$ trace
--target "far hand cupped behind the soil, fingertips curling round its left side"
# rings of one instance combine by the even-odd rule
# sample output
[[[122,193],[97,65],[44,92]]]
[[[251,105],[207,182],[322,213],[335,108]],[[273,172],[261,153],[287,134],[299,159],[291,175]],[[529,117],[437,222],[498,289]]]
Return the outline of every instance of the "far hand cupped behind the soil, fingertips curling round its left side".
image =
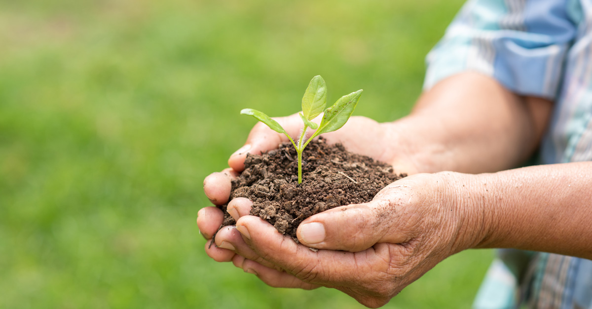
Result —
[[[317,122],[321,117],[322,115],[316,119]],[[274,119],[291,136],[298,135],[303,126],[298,114]],[[312,132],[310,131],[310,134]],[[337,131],[323,134],[329,143],[341,142],[349,151],[392,164],[396,172],[414,174],[418,169],[408,156],[408,151],[404,146],[408,143],[402,141],[403,136],[404,134],[397,131],[397,127],[392,123],[378,123],[361,116],[350,118],[343,128]],[[230,181],[244,170],[246,154],[260,154],[275,149],[278,144],[287,141],[288,138],[285,135],[272,131],[261,122],[257,123],[250,132],[246,144],[231,155],[228,161],[230,168],[205,178],[206,196],[215,205],[227,203],[230,197]],[[237,212],[234,207],[230,207],[230,211]],[[217,207],[204,207],[198,212],[197,224],[206,239],[211,239],[217,232],[223,217],[223,213]],[[231,261],[234,256],[234,252],[228,250],[228,243],[223,243],[223,239],[220,238],[220,242],[218,242],[218,237],[216,238],[218,246],[210,246],[210,242],[206,243],[207,254],[218,262]]]

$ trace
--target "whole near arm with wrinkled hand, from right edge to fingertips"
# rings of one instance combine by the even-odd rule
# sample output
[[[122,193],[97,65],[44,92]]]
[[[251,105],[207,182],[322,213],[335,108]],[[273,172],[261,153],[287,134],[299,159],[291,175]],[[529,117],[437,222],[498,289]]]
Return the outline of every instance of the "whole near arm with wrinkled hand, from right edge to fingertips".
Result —
[[[379,307],[443,259],[469,248],[592,258],[590,188],[590,162],[494,174],[412,175],[369,203],[304,220],[298,239],[317,252],[287,241],[259,217],[243,215],[237,220],[243,237],[231,241],[246,245],[237,246],[233,262],[274,287],[324,285]],[[241,257],[250,252],[265,259]]]

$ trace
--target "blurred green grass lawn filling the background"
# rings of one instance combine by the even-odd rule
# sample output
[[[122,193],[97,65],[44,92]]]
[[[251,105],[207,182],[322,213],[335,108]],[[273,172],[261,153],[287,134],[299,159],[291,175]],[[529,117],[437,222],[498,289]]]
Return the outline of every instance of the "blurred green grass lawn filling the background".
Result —
[[[0,0],[0,308],[358,308],[266,287],[204,251],[205,175],[310,78],[391,121],[461,1]],[[466,308],[490,251],[387,308]]]

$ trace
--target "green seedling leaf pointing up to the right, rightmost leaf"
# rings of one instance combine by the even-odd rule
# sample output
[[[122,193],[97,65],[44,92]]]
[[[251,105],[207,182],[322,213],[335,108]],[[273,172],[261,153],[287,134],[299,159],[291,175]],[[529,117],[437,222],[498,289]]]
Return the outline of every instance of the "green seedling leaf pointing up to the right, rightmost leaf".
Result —
[[[352,115],[353,110],[358,105],[358,100],[362,95],[362,89],[352,92],[349,95],[342,96],[333,106],[327,108],[323,115],[321,124],[318,125],[318,130],[314,132],[314,136],[321,135],[327,132],[333,132],[341,128],[348,122],[349,116]]]

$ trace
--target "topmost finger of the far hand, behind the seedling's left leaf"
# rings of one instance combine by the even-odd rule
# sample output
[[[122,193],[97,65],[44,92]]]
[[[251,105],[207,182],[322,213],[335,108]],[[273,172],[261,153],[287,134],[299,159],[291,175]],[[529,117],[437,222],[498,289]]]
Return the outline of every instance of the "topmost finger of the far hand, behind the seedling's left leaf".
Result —
[[[298,114],[287,117],[274,117],[282,128],[286,130],[288,135],[295,136],[302,129],[302,121]],[[262,122],[258,122],[249,133],[246,143],[234,154],[230,155],[228,165],[235,171],[244,170],[244,159],[247,154],[262,154],[262,152],[278,148],[282,142],[287,142],[288,138],[284,134],[280,134],[270,129]]]

